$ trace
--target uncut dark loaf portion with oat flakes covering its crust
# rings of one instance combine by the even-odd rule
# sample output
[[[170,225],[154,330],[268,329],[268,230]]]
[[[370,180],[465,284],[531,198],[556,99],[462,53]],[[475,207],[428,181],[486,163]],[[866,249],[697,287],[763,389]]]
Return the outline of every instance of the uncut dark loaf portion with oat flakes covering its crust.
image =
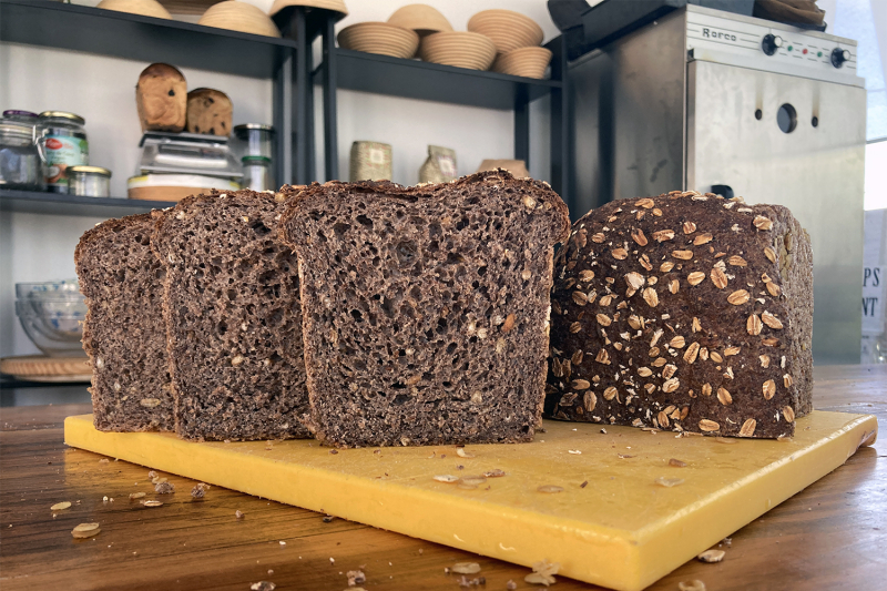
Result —
[[[548,416],[772,438],[812,410],[813,254],[787,208],[611,202],[554,275]]]

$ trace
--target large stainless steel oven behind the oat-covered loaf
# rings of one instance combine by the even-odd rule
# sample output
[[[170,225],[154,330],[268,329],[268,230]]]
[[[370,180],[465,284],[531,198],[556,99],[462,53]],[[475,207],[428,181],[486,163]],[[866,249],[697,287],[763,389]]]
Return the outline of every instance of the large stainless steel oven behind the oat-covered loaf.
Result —
[[[618,37],[570,67],[570,211],[675,188],[789,207],[815,253],[815,363],[858,363],[856,65],[849,39],[695,6]]]

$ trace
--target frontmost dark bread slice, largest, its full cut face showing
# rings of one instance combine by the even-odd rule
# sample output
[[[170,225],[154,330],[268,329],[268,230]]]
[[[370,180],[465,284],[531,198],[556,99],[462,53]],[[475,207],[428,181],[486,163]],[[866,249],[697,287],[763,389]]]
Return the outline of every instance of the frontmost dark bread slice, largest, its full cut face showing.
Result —
[[[506,171],[288,190],[315,436],[338,446],[528,441],[567,206]]]

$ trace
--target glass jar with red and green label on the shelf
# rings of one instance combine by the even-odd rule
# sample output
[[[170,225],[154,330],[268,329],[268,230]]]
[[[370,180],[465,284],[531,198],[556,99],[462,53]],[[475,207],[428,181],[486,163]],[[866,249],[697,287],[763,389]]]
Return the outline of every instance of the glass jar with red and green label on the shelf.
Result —
[[[47,185],[54,193],[68,193],[68,166],[82,166],[90,163],[90,144],[85,120],[63,111],[40,113],[34,141],[43,162],[47,164]]]

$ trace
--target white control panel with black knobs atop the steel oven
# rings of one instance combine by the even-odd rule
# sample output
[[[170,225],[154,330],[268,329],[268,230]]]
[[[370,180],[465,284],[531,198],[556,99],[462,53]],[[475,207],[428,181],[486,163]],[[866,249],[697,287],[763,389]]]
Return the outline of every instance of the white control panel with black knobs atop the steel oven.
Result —
[[[690,7],[687,7],[690,9]],[[846,74],[856,78],[856,43],[835,35],[783,28],[762,19],[715,16],[712,11],[687,10],[687,50],[710,50],[756,62],[762,69],[778,67],[828,78]],[[726,13],[721,13],[726,14]],[[813,69],[813,71],[810,71]]]

